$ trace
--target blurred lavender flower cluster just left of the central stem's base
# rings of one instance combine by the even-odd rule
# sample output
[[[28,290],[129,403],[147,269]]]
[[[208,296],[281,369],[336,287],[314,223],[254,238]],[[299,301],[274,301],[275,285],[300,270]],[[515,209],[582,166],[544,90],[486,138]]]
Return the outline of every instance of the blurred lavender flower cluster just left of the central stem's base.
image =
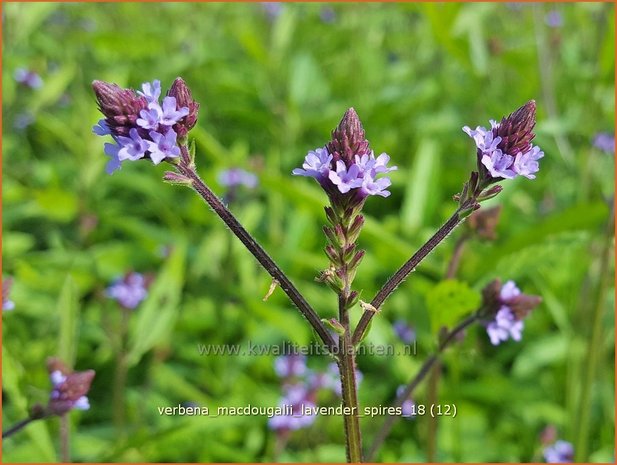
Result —
[[[274,362],[276,374],[283,379],[283,398],[279,406],[292,406],[291,415],[275,415],[268,426],[279,432],[294,431],[312,425],[317,416],[306,414],[315,408],[315,399],[320,389],[327,389],[341,396],[341,381],[336,363],[328,365],[323,373],[315,373],[306,365],[301,354],[282,355]],[[362,373],[356,370],[356,381],[360,383]],[[303,413],[305,412],[305,413]]]

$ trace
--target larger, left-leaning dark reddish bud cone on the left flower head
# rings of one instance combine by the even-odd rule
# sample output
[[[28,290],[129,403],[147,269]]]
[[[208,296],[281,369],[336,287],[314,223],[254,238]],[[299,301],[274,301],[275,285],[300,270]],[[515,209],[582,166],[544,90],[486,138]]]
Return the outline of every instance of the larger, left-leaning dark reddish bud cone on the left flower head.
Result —
[[[111,133],[128,137],[131,128],[136,126],[139,112],[148,106],[145,97],[140,97],[132,89],[122,89],[117,84],[103,81],[94,81],[92,89]]]

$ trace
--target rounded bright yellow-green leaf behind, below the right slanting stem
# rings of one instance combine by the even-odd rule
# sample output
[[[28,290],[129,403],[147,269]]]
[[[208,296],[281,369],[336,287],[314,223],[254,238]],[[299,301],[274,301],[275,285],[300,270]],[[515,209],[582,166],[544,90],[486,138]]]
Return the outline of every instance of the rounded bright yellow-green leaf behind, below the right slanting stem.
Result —
[[[431,330],[437,334],[442,326],[451,328],[463,315],[477,309],[480,293],[454,279],[442,281],[426,296],[431,318]]]

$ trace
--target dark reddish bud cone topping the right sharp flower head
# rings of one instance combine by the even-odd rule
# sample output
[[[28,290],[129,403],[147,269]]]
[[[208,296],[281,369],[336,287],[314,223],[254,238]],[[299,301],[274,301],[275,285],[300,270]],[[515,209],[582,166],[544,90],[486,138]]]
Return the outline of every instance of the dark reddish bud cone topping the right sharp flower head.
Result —
[[[527,153],[531,150],[531,141],[536,136],[533,128],[536,125],[536,101],[530,100],[514,113],[501,119],[499,125],[493,128],[493,136],[501,137],[497,146],[503,153],[512,156]]]

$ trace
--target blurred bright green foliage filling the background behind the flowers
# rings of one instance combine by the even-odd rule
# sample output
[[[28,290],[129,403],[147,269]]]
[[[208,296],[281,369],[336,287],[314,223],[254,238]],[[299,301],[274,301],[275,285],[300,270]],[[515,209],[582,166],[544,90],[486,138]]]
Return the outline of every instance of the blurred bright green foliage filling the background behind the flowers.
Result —
[[[551,12],[561,24],[548,24]],[[391,322],[403,319],[418,354],[360,357],[360,402],[387,405],[434,349],[431,306],[461,306],[491,279],[514,279],[544,302],[522,342],[493,347],[474,327],[446,353],[439,400],[458,416],[439,422],[436,460],[539,461],[547,425],[580,460],[613,460],[614,156],[592,146],[614,127],[612,4],[5,3],[3,21],[3,276],[14,277],[16,303],[3,315],[5,427],[46,402],[45,359],[61,355],[97,372],[91,409],[70,415],[75,460],[344,459],[336,417],[292,433],[277,453],[265,418],[158,414],[182,402],[278,403],[274,357],[204,357],[198,344],[313,338],[282,292],[262,301],[266,273],[199,198],[161,182],[163,166],[104,173],[92,80],[166,88],[182,76],[201,102],[191,135],[202,176],[221,195],[221,170],[259,176],[231,208],[324,318],[335,316],[333,294],[314,282],[326,266],[325,195],[290,172],[344,111],[355,107],[376,152],[399,166],[392,196],[366,205],[356,288],[368,299],[454,210],[474,166],[461,127],[536,99],[538,178],[504,182],[492,201],[503,205],[498,238],[468,244],[457,276],[466,297],[440,285],[450,238],[388,300],[367,341],[400,346]],[[20,67],[44,85],[18,84]],[[118,425],[120,311],[104,290],[129,270],[155,281],[129,322]],[[328,361],[310,357],[309,367]],[[367,445],[381,422],[362,419]],[[56,419],[28,426],[3,441],[4,461],[56,460],[58,429]],[[377,459],[425,461],[428,434],[427,417],[403,420]]]

